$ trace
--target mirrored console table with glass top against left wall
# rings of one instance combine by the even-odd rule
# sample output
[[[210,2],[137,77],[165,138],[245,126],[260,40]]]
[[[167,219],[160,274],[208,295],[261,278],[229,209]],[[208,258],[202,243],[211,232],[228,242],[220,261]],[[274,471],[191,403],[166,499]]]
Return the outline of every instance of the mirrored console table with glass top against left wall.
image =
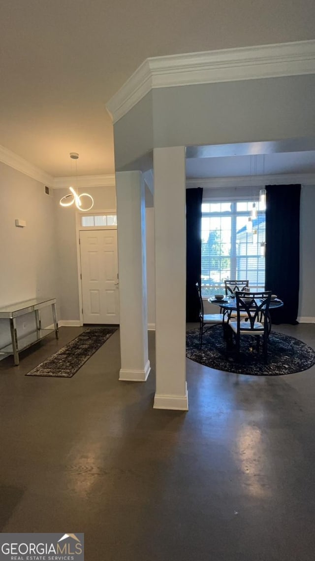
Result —
[[[40,310],[42,308],[51,306],[53,314],[54,329],[41,328]],[[34,312],[36,320],[36,329],[17,338],[16,318],[19,316],[30,314]],[[18,353],[34,343],[40,341],[50,333],[55,332],[55,337],[58,339],[58,322],[56,312],[56,299],[55,298],[32,298],[24,302],[17,302],[17,304],[10,304],[8,306],[0,307],[0,319],[10,320],[11,331],[11,344],[6,345],[0,349],[0,355],[13,355],[14,364],[18,365]]]

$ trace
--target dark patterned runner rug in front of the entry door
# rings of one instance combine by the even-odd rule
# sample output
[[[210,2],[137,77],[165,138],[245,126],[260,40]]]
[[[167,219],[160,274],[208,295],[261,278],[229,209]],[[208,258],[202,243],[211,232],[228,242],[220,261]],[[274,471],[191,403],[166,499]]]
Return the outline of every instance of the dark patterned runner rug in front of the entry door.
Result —
[[[25,376],[71,378],[115,331],[116,328],[87,328]]]

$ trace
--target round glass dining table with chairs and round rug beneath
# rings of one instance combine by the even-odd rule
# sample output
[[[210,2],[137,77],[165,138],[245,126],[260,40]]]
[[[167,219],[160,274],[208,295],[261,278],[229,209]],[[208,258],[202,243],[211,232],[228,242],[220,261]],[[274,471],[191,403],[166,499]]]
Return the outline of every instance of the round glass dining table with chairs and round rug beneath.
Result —
[[[225,279],[202,297],[199,327],[187,332],[187,357],[216,370],[248,375],[281,375],[306,370],[315,353],[272,325],[284,301],[272,291],[251,288],[248,279]],[[207,313],[208,311],[213,313]]]

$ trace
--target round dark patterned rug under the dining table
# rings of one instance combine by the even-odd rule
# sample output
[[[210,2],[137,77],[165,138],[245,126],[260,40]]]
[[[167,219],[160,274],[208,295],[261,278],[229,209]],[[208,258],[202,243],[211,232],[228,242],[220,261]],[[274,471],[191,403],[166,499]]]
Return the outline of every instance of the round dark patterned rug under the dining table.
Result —
[[[186,356],[194,362],[235,374],[254,376],[279,376],[293,374],[311,368],[315,364],[315,352],[302,341],[271,331],[268,341],[268,364],[256,351],[254,338],[241,338],[240,353],[226,351],[221,325],[215,325],[203,335],[202,350],[199,348],[199,329],[187,333]]]

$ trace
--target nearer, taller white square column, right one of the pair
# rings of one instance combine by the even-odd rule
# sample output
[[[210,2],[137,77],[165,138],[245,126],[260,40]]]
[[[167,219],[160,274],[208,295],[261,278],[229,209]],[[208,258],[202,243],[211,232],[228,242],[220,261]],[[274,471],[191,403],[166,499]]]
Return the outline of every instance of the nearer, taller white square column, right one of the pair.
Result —
[[[185,149],[156,148],[154,408],[188,410],[186,383]]]

